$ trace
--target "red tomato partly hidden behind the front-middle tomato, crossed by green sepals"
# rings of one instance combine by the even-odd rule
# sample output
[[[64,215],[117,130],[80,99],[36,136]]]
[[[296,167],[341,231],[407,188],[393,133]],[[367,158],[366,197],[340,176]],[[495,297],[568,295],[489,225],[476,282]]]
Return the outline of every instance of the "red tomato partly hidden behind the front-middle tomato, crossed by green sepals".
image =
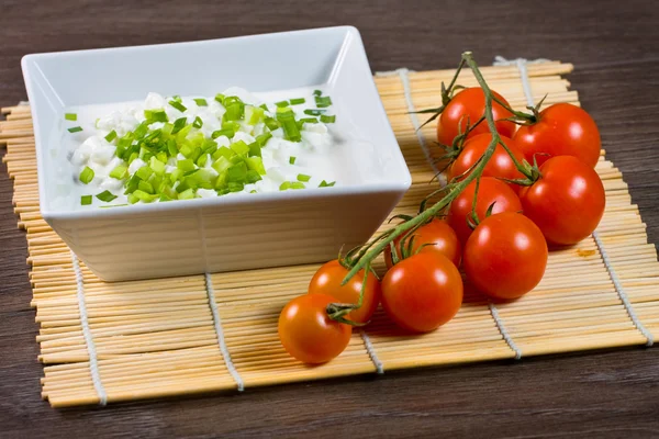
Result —
[[[455,230],[450,228],[450,226],[444,221],[435,218],[428,224],[418,227],[418,229],[414,232],[413,236],[413,254],[421,248],[420,251],[422,252],[438,252],[446,256],[453,263],[456,264],[456,267],[460,264],[462,249],[460,247],[460,241],[458,240],[458,235],[456,235]],[[401,239],[402,236],[393,240],[399,258]],[[405,240],[405,243],[409,243],[409,240]],[[422,248],[422,246],[424,247]],[[387,268],[391,268],[393,266],[390,247],[384,249],[384,262],[387,262]]]

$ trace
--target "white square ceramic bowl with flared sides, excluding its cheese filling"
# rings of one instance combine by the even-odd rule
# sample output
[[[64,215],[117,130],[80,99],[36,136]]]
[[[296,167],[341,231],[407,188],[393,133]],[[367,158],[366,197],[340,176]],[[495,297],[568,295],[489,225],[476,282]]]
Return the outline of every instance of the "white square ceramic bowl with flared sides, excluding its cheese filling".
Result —
[[[359,32],[327,27],[167,45],[27,55],[44,219],[108,281],[242,270],[335,258],[361,244],[410,188]],[[63,210],[65,109],[142,100],[149,91],[214,95],[323,85],[336,128],[357,139],[357,184],[113,209]],[[72,168],[69,175],[72,175]]]

